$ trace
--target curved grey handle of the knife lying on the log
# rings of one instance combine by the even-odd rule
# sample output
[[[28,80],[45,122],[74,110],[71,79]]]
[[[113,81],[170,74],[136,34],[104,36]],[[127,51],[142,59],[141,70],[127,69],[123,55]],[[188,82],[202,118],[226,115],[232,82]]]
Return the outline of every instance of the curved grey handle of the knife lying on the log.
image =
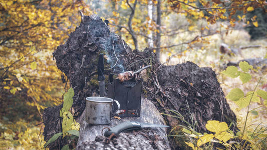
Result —
[[[111,127],[110,130],[106,130],[104,132],[104,135],[106,137],[109,137],[112,133],[115,135],[118,135],[120,132],[128,129],[137,129],[141,128],[141,124],[135,121],[126,121],[123,123],[120,123],[119,125],[116,125],[114,127]]]

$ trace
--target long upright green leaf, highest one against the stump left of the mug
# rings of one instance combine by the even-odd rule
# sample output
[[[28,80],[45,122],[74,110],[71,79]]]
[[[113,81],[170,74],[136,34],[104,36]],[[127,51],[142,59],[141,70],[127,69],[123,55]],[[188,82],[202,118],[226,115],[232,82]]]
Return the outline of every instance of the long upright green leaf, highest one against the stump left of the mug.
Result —
[[[68,92],[64,95],[64,103],[63,103],[63,107],[60,110],[60,116],[62,117],[63,113],[68,111],[72,104],[73,104],[73,97],[74,96],[74,90],[73,88],[69,88]]]

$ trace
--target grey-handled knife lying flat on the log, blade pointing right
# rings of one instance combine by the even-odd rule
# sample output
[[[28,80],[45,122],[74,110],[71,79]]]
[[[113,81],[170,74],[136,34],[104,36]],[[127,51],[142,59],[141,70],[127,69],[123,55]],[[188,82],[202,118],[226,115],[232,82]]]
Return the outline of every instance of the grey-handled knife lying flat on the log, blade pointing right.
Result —
[[[104,135],[106,137],[109,137],[112,133],[114,133],[115,135],[118,135],[120,132],[123,132],[126,130],[141,129],[145,127],[170,127],[170,126],[162,125],[162,124],[142,123],[142,122],[137,122],[137,121],[126,121],[126,122],[120,123],[119,125],[111,127],[110,130],[106,130],[104,132]]]

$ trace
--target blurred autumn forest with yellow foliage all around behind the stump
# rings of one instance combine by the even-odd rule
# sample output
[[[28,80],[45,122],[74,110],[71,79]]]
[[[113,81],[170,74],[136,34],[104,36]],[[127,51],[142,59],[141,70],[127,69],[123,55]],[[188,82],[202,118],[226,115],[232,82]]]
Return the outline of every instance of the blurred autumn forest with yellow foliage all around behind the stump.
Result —
[[[68,81],[52,52],[79,25],[79,10],[109,20],[133,49],[153,48],[165,65],[212,67],[227,95],[236,87],[250,91],[266,73],[255,65],[246,84],[220,74],[228,62],[266,57],[266,8],[266,0],[1,0],[0,147],[43,148],[42,112],[63,102]],[[220,51],[222,43],[228,50]],[[258,88],[266,84],[263,77]],[[228,103],[242,128],[246,107]],[[249,114],[246,130],[266,126],[266,114],[265,106]]]

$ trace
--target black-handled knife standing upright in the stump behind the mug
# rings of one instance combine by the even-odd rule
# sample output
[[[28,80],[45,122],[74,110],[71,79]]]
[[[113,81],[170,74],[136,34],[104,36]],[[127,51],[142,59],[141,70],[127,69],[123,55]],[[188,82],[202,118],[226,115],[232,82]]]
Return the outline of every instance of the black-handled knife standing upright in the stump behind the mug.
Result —
[[[104,54],[101,53],[98,58],[98,65],[97,65],[97,79],[99,82],[99,91],[100,96],[105,96],[105,75],[104,75]]]

